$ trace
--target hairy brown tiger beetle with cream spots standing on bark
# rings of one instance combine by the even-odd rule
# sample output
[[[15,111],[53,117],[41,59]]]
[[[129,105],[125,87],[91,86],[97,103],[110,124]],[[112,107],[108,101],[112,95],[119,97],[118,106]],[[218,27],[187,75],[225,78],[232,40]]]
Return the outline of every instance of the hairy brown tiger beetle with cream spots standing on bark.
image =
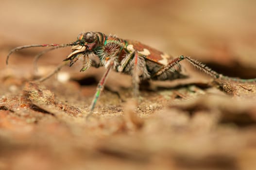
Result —
[[[100,97],[111,69],[132,75],[135,97],[138,96],[140,80],[174,80],[185,78],[186,75],[182,73],[182,68],[179,64],[182,60],[187,60],[192,66],[202,70],[214,79],[241,83],[256,82],[256,79],[239,79],[223,76],[211,68],[208,68],[205,64],[188,56],[181,55],[180,57],[173,58],[166,53],[151,48],[138,41],[121,39],[115,35],[107,36],[100,32],[81,33],[78,35],[76,41],[68,44],[36,44],[17,47],[9,52],[6,64],[8,64],[9,56],[14,51],[32,47],[52,47],[35,56],[34,65],[36,66],[37,60],[44,53],[69,46],[72,46],[72,52],[63,60],[64,63],[57,67],[49,76],[40,81],[48,79],[51,75],[68,64],[68,62],[71,67],[79,58],[84,60],[83,67],[80,71],[85,71],[90,67],[98,68],[104,66],[106,71],[98,84],[97,91],[89,107],[90,112],[87,115],[87,118],[93,113],[95,104]],[[98,58],[98,61],[95,60],[95,57]]]

